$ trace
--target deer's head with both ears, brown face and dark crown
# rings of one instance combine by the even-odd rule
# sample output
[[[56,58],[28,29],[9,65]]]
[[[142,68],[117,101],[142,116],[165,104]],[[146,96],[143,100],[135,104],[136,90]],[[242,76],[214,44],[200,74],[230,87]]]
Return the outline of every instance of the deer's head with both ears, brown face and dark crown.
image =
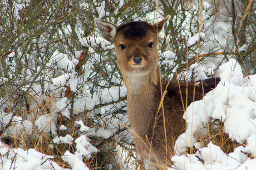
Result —
[[[160,22],[130,22],[118,27],[114,23],[95,19],[101,35],[115,45],[117,64],[126,77],[152,74],[158,66],[158,33],[169,19]]]

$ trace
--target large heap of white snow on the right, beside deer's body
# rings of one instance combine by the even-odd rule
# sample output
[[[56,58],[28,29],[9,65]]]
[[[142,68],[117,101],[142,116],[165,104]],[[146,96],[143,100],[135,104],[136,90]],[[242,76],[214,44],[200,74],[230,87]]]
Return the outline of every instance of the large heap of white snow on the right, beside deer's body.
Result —
[[[248,78],[243,78],[242,68],[234,59],[230,59],[228,63],[220,66],[219,76],[221,81],[216,88],[206,94],[202,100],[192,103],[186,110],[184,119],[188,122],[188,129],[176,141],[176,154],[182,154],[186,151],[187,147],[195,146],[199,149],[195,156],[204,160],[205,167],[223,169],[239,167],[239,161],[236,164],[230,162],[236,160],[232,158],[235,155],[243,159],[243,161],[246,159],[246,163],[243,162],[242,167],[246,165],[248,168],[253,169],[254,166],[251,163],[254,162],[255,164],[256,160],[250,160],[244,153],[251,153],[255,156],[255,76],[249,76],[249,78],[252,77],[252,81]],[[201,145],[197,143],[199,141],[196,140],[195,136],[207,136],[207,132],[204,132],[204,127],[210,117],[224,122],[225,133],[228,133],[232,140],[236,140],[239,143],[247,142],[246,147],[239,147],[239,150],[243,152],[234,151],[227,156],[218,146],[211,142],[208,144],[208,147],[200,148]],[[186,167],[190,167],[190,169],[204,169],[204,166],[197,165],[199,160],[195,156],[191,156],[196,160],[195,162],[189,161],[188,158],[184,159],[184,156],[174,156],[172,160],[176,162],[175,166],[178,169],[186,169]]]

